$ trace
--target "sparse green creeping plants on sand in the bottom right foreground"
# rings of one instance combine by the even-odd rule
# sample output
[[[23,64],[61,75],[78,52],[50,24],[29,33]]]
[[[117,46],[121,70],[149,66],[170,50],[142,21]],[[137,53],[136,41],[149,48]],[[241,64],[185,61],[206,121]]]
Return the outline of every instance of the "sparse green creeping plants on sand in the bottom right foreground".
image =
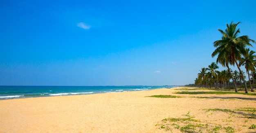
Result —
[[[210,117],[209,120],[198,120],[195,116],[190,114],[190,111],[184,115],[181,115],[180,118],[165,118],[159,124],[155,126],[158,129],[168,129],[168,131],[175,132],[177,130],[182,133],[235,133],[234,126],[231,126],[237,118],[243,120],[245,123],[240,125],[238,131],[242,131],[245,127],[249,127],[249,129],[256,129],[255,124],[251,124],[246,120],[248,117],[253,118],[256,115],[252,114],[255,112],[256,108],[245,107],[238,109],[202,109],[205,111],[205,115]],[[210,112],[210,113],[208,113]],[[216,113],[227,113],[229,116],[221,114],[222,119],[215,119]],[[245,115],[247,117],[245,117]],[[244,116],[244,117],[243,117]],[[234,118],[233,118],[234,117]],[[222,122],[223,124],[218,124],[218,122]]]

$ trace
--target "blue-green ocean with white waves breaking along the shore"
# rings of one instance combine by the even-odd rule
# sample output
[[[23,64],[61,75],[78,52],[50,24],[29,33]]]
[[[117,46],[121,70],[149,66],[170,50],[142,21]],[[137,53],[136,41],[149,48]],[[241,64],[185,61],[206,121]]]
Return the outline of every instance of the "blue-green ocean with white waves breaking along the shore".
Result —
[[[159,88],[166,88],[166,86],[0,86],[0,100],[147,91]]]

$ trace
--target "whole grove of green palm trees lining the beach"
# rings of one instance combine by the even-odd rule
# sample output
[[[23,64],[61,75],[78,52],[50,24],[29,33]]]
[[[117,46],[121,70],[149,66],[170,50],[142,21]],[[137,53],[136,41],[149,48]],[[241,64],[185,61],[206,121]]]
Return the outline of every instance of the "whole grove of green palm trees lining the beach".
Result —
[[[220,40],[214,41],[213,46],[216,48],[211,54],[212,57],[217,56],[216,63],[220,63],[227,70],[218,71],[218,65],[212,62],[208,68],[201,68],[198,77],[195,79],[195,85],[204,87],[228,87],[230,85],[230,79],[232,79],[232,85],[237,91],[238,83],[244,84],[245,93],[247,91],[247,83],[249,83],[251,91],[254,92],[255,83],[255,68],[256,68],[256,55],[253,50],[251,43],[255,43],[254,40],[249,39],[247,35],[238,36],[240,29],[236,28],[240,22],[234,24],[231,22],[227,24],[225,31],[220,31],[222,37]],[[238,68],[238,71],[234,72],[229,68],[233,65]],[[248,74],[248,82],[245,81],[245,72],[240,67],[244,66],[246,73]],[[252,78],[251,78],[252,77]]]

